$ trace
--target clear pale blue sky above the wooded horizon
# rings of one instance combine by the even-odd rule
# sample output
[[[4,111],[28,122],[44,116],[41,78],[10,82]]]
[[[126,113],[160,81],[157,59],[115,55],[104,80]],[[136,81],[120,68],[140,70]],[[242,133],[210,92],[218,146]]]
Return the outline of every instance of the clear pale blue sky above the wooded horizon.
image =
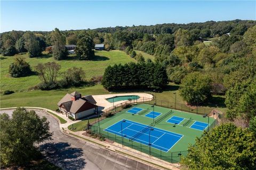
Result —
[[[256,20],[256,1],[2,1],[1,33]]]

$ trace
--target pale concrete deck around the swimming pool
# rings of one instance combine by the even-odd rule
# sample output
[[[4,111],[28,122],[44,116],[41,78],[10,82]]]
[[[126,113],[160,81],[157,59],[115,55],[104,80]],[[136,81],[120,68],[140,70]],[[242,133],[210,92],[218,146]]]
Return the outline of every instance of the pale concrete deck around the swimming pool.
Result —
[[[102,94],[102,95],[92,95],[94,100],[97,102],[97,106],[99,106],[99,109],[102,111],[105,111],[106,109],[113,107],[113,103],[107,101],[108,98],[113,98],[115,96],[124,96],[124,95],[138,95],[140,98],[138,100],[144,100],[144,101],[151,101],[153,100],[153,95],[148,93],[121,93],[121,94]],[[114,102],[114,106],[117,104],[121,104],[123,102],[126,102],[128,100],[121,100]]]

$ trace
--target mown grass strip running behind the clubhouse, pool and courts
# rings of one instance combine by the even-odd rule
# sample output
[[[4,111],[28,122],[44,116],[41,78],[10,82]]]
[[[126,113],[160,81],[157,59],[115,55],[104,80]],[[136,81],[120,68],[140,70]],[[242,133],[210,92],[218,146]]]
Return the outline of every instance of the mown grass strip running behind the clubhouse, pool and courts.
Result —
[[[177,103],[185,103],[179,95],[179,86],[175,84],[169,84],[165,90],[161,93],[157,93],[157,104],[161,101],[175,102],[175,95],[177,93]],[[82,95],[93,95],[93,94],[109,94],[102,85],[98,84],[91,87],[80,87],[80,88],[68,88],[51,91],[34,90],[28,92],[16,92],[9,95],[1,95],[1,108],[7,107],[42,107],[51,110],[57,109],[57,103],[66,93],[72,93],[78,91]],[[129,93],[129,92],[145,92],[153,93],[149,91],[115,91],[113,93]],[[154,94],[154,93],[153,93]],[[205,107],[217,108],[222,112],[226,111],[225,97],[214,95],[213,98],[205,103]]]

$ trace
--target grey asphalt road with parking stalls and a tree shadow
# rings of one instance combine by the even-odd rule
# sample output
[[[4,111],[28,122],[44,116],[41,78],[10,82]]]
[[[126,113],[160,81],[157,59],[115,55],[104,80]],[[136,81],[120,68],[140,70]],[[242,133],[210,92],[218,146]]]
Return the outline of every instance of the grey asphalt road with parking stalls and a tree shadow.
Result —
[[[6,112],[11,116],[12,111],[0,110],[0,113]],[[53,132],[53,140],[41,143],[39,148],[47,160],[62,169],[156,169],[116,152],[65,135],[60,131],[59,123],[55,118],[47,115],[42,110],[36,110],[36,113],[41,117],[45,116],[49,120],[50,131]]]

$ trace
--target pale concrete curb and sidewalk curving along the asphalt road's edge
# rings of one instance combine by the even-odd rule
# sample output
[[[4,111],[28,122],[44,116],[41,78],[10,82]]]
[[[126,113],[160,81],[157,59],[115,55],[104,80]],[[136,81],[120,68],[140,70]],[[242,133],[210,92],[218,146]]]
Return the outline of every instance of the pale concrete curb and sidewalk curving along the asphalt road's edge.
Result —
[[[19,107],[0,108],[0,110],[11,110],[11,109],[16,109],[16,108],[19,108]],[[148,161],[146,161],[146,160],[137,158],[137,157],[135,157],[135,156],[130,155],[129,153],[125,153],[125,154],[124,154],[124,153],[122,153],[121,151],[118,151],[118,150],[111,150],[111,149],[109,149],[109,148],[105,145],[105,144],[106,144],[105,142],[102,142],[102,143],[105,143],[105,144],[101,144],[100,142],[96,142],[96,141],[93,141],[93,140],[85,139],[84,137],[81,137],[81,136],[78,136],[78,135],[75,135],[75,134],[66,132],[65,129],[63,129],[63,127],[62,127],[62,128],[60,127],[60,120],[59,120],[56,116],[54,116],[54,115],[50,114],[49,112],[47,112],[47,111],[51,111],[51,112],[55,112],[55,111],[52,111],[52,110],[46,109],[46,108],[40,108],[40,107],[21,107],[21,108],[39,109],[39,110],[45,111],[47,115],[50,115],[50,116],[52,116],[53,118],[57,119],[57,121],[58,121],[58,123],[59,123],[60,131],[61,131],[61,133],[64,134],[64,135],[67,135],[67,136],[70,136],[70,137],[74,137],[74,138],[76,138],[76,139],[78,139],[78,140],[85,141],[85,142],[88,142],[88,143],[93,144],[93,145],[97,145],[98,147],[103,148],[103,149],[107,149],[107,150],[110,150],[110,151],[114,151],[115,153],[118,153],[119,155],[123,155],[123,156],[125,156],[125,157],[129,157],[129,158],[134,159],[134,160],[136,160],[136,161],[139,161],[139,162],[141,162],[141,163],[143,163],[143,164],[147,164],[147,165],[150,165],[150,166],[155,167],[155,168],[158,168],[158,169],[170,169],[170,168],[166,168],[166,167],[163,167],[163,166],[161,166],[161,165],[157,165],[157,164],[155,164],[155,163],[150,163],[150,162],[148,162]],[[179,169],[179,168],[177,168],[177,167],[175,167],[175,166],[172,165],[172,168],[171,168],[171,169]]]

